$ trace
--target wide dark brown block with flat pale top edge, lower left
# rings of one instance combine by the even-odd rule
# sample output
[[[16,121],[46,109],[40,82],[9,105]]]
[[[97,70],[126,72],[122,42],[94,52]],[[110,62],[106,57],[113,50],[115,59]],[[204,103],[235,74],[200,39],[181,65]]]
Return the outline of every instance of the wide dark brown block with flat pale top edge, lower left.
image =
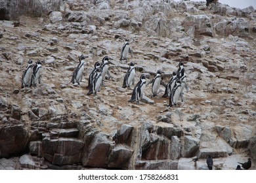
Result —
[[[84,142],[74,138],[43,139],[43,157],[54,165],[81,162]]]

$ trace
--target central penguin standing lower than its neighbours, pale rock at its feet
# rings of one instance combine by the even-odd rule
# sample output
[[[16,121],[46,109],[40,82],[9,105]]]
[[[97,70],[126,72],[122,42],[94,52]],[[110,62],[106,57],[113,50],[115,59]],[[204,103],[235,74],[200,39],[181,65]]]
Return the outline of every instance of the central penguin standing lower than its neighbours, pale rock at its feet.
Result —
[[[139,100],[143,97],[143,92],[146,86],[146,76],[141,75],[139,82],[136,84],[135,88],[133,89],[133,93],[131,95],[131,99],[129,100],[130,103],[136,101],[139,104]]]

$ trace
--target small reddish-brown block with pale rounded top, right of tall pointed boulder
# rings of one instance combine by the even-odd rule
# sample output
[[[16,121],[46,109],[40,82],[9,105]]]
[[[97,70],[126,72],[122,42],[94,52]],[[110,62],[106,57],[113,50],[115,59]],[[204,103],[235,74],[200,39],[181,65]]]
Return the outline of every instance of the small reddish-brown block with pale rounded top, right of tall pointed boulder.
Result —
[[[118,144],[110,152],[108,167],[121,167],[127,169],[129,165],[128,161],[131,158],[133,151],[134,150],[128,146]]]

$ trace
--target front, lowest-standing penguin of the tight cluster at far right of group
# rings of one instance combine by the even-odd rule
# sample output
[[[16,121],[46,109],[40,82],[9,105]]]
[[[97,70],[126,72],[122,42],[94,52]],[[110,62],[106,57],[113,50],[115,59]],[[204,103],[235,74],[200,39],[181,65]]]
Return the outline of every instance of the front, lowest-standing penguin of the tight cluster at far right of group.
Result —
[[[171,95],[169,96],[169,107],[176,105],[180,97],[181,101],[183,101],[182,92],[184,88],[186,88],[186,91],[188,92],[188,86],[186,86],[186,82],[182,80],[175,81],[175,85],[173,86],[173,90],[171,91]]]

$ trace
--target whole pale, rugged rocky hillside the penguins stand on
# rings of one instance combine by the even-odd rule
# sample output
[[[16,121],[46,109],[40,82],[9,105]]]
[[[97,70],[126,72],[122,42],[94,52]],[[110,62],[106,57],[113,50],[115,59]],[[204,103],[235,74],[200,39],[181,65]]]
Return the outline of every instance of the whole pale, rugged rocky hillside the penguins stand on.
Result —
[[[247,158],[256,169],[253,7],[55,3],[0,1],[0,169],[207,169],[208,154],[213,169],[236,169]],[[167,107],[164,88],[152,98],[148,85],[140,105],[128,103],[132,91],[121,86],[129,61],[119,61],[125,38],[135,83],[158,69],[167,83],[185,63],[184,102]],[[77,86],[70,80],[81,54],[89,58]],[[87,96],[88,76],[104,56],[114,59],[113,78]],[[43,61],[41,84],[21,89],[28,59]]]

